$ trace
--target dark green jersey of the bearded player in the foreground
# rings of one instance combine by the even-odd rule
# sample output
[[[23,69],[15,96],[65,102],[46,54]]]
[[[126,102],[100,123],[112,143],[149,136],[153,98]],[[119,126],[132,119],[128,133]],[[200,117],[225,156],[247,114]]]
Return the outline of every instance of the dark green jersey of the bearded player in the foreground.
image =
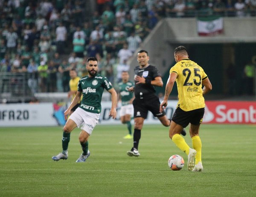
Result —
[[[85,111],[99,114],[101,112],[101,100],[104,89],[112,89],[112,84],[106,77],[96,74],[94,77],[88,75],[82,77],[78,83],[78,91],[81,91],[83,98],[80,108]]]

